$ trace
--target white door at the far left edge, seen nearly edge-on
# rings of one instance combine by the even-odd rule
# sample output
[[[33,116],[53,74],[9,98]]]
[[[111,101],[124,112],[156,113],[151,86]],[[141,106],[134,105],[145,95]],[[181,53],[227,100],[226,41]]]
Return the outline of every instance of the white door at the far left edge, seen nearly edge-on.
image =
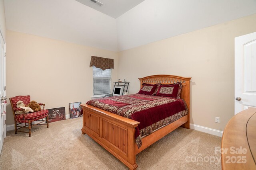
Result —
[[[3,147],[4,138],[6,137],[6,57],[5,57],[5,43],[0,34],[0,152]]]

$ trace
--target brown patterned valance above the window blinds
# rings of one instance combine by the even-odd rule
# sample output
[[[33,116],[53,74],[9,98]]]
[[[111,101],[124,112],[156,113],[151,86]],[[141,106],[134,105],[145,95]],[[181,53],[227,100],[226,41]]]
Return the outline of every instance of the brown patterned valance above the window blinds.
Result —
[[[90,66],[96,66],[102,70],[114,68],[114,59],[92,56]]]

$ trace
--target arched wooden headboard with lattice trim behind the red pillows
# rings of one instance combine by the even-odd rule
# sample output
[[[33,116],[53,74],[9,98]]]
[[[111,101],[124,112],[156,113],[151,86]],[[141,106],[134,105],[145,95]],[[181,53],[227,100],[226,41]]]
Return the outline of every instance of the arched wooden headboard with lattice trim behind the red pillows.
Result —
[[[142,88],[143,83],[147,84],[173,84],[176,82],[182,83],[182,89],[180,98],[184,99],[188,109],[190,109],[190,79],[191,77],[181,77],[181,76],[173,76],[173,75],[153,75],[153,76],[146,76],[143,78],[139,78],[140,80],[140,88]]]

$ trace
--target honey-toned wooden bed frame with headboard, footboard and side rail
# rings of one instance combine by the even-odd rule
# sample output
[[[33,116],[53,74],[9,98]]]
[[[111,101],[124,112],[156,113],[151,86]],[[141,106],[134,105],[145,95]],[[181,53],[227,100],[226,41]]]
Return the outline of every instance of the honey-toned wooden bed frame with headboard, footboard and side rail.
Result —
[[[149,135],[142,137],[140,139],[141,145],[139,147],[138,141],[136,141],[136,136],[138,134],[136,133],[140,122],[88,104],[81,104],[83,109],[82,134],[90,136],[131,170],[136,169],[138,167],[136,164],[136,154],[180,126],[187,129],[190,128],[190,79],[191,78],[173,75],[153,75],[139,78],[141,88],[144,83],[182,83],[180,98],[186,102],[186,107],[188,109],[188,112],[185,115],[182,115],[182,117],[178,117],[178,119],[172,123],[158,128]]]

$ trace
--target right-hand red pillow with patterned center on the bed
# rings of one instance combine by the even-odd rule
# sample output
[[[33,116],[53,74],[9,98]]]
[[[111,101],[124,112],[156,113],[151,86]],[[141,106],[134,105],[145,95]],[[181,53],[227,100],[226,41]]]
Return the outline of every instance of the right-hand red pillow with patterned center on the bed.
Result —
[[[177,82],[174,84],[161,84],[157,90],[156,96],[180,98],[182,83]]]

